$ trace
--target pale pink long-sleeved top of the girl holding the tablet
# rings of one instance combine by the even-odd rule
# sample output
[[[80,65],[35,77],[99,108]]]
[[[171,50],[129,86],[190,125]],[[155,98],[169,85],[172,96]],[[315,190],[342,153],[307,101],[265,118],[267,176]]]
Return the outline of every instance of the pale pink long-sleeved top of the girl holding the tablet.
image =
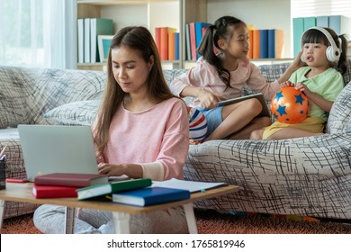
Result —
[[[241,96],[241,89],[245,85],[248,85],[252,91],[264,94],[267,100],[271,99],[272,95],[279,89],[278,81],[267,84],[258,67],[248,58],[239,60],[238,68],[230,72],[231,88],[226,89],[227,86],[220,80],[217,69],[202,57],[197,60],[196,65],[187,74],[177,77],[170,86],[172,92],[179,96],[187,85],[222,94],[223,100]]]

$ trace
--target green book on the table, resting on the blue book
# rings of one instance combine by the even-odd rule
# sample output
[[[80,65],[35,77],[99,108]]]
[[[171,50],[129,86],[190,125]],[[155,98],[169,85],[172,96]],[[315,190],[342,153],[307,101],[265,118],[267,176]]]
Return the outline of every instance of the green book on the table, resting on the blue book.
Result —
[[[137,178],[116,182],[109,182],[103,184],[95,184],[76,190],[77,199],[85,200],[97,196],[103,196],[106,194],[129,191],[133,189],[139,189],[142,187],[147,187],[152,184],[149,178]]]

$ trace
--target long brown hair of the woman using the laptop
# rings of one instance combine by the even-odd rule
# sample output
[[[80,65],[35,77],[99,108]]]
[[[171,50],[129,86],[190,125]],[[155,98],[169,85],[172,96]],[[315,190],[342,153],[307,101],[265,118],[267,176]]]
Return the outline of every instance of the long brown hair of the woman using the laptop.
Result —
[[[112,71],[112,49],[118,49],[122,46],[138,51],[139,56],[147,63],[150,62],[150,58],[153,58],[153,65],[147,80],[148,97],[151,101],[160,103],[166,99],[175,97],[166,84],[157,46],[148,29],[142,26],[128,26],[118,31],[111,41],[107,58],[107,85],[103,94],[101,110],[99,111],[99,120],[93,129],[94,141],[97,145],[99,155],[103,153],[103,149],[109,140],[112,117],[123,103],[124,97],[127,94],[118,85]]]

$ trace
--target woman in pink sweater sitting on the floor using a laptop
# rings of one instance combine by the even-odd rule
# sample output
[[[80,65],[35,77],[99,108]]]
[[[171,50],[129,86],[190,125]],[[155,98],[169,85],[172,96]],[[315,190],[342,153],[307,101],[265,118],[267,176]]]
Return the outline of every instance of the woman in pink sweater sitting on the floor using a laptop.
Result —
[[[144,27],[117,32],[108,56],[108,80],[93,126],[100,174],[183,179],[189,148],[184,102],[166,85],[155,41]],[[34,224],[43,233],[62,233],[64,209],[42,205]],[[76,233],[113,233],[112,212],[80,209]],[[131,233],[185,233],[183,208],[131,215]]]

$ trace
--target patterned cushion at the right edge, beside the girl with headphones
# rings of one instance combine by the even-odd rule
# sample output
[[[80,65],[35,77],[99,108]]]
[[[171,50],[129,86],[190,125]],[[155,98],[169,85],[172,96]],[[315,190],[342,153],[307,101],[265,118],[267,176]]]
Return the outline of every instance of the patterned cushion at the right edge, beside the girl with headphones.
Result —
[[[344,87],[333,103],[327,122],[330,134],[346,132],[351,125],[351,82]]]

